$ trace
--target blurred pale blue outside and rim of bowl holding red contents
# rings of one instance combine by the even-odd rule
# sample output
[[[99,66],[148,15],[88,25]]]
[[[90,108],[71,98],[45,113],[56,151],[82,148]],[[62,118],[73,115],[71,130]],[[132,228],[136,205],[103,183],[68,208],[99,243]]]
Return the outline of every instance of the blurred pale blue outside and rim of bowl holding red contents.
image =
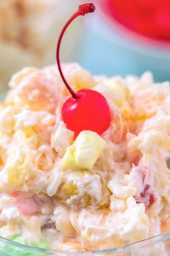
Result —
[[[157,81],[170,80],[170,43],[138,35],[112,20],[97,4],[86,22],[80,63],[93,74],[135,74],[150,70]]]

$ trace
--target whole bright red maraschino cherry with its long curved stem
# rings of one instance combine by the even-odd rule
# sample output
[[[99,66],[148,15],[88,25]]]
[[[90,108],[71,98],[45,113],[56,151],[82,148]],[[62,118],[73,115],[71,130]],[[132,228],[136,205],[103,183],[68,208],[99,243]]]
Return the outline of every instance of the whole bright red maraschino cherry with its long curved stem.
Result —
[[[75,93],[70,85],[68,85],[61,69],[60,47],[66,29],[76,17],[84,16],[85,14],[94,12],[94,10],[94,4],[82,4],[79,6],[79,9],[71,16],[61,31],[56,52],[58,70],[66,88],[68,88],[72,96],[63,104],[62,117],[68,129],[75,132],[75,137],[83,130],[91,130],[102,135],[109,127],[111,121],[109,104],[104,96],[97,91],[86,89],[79,90]]]

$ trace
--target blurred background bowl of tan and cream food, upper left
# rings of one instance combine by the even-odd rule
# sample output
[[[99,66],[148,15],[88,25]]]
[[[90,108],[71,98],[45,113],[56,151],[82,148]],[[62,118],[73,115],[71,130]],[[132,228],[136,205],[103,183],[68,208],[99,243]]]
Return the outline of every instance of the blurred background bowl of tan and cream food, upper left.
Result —
[[[55,48],[64,23],[76,9],[76,0],[0,1],[0,93],[12,74],[22,67],[45,67],[55,63]],[[79,54],[81,30],[78,20],[63,40],[62,61]],[[73,38],[74,43],[69,39]]]

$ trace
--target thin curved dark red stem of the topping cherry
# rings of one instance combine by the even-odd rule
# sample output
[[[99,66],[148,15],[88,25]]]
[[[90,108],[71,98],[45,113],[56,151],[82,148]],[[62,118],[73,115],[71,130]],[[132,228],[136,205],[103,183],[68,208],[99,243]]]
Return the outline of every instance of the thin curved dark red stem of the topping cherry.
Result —
[[[64,25],[63,30],[61,31],[61,34],[58,38],[58,45],[57,45],[57,51],[56,51],[56,60],[58,64],[58,70],[61,74],[61,78],[63,82],[66,85],[66,88],[68,91],[71,93],[72,97],[75,98],[76,100],[79,98],[79,96],[73,91],[73,89],[68,85],[68,82],[66,81],[66,78],[64,77],[63,71],[61,69],[61,60],[60,60],[60,48],[61,48],[61,41],[63,39],[63,35],[65,34],[68,26],[79,16],[84,16],[85,14],[89,14],[91,12],[94,12],[95,10],[94,4],[82,4],[79,6],[79,9],[71,16],[71,18],[66,22],[66,25]]]

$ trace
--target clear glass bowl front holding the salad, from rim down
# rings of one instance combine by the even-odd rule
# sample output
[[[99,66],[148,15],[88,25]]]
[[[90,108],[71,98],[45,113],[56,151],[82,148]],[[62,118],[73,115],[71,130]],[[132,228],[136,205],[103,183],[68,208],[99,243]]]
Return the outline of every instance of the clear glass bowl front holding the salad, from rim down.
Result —
[[[62,256],[62,255],[113,255],[113,256],[169,256],[170,231],[153,236],[140,242],[125,245],[124,247],[104,249],[91,252],[58,251],[41,249],[0,237],[0,256]]]

